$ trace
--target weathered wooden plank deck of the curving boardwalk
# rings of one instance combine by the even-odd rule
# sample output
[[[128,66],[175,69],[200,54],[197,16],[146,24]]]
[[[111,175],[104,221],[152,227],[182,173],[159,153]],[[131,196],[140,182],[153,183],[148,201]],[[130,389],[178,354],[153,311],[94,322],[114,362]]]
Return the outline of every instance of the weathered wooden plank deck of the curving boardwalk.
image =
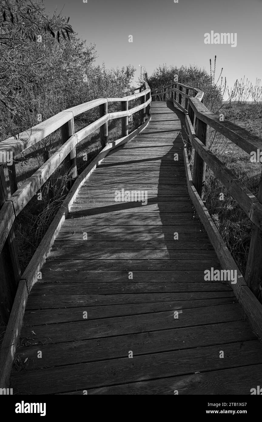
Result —
[[[171,103],[151,112],[92,173],[56,238],[27,302],[14,394],[250,394],[261,384],[261,344],[232,289],[203,280],[220,264],[187,192],[184,114]],[[147,205],[115,202],[121,189],[147,191]]]

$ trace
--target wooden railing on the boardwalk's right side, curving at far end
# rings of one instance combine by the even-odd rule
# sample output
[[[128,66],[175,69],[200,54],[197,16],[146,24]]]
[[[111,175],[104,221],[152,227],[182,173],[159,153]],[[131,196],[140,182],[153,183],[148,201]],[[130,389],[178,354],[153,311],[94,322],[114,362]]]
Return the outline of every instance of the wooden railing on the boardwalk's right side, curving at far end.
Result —
[[[257,149],[262,151],[262,139],[228,120],[220,121],[219,116],[211,113],[201,102],[204,93],[199,89],[177,82],[160,90],[152,90],[151,93],[153,100],[158,100],[160,96],[164,101],[170,99],[185,114],[187,158],[191,156],[193,148],[195,154],[192,184],[198,195],[203,196],[202,188],[207,164],[253,223],[245,280],[254,295],[259,297],[262,289],[262,178],[258,197],[255,197],[211,152],[206,145],[206,134],[208,126],[212,127],[248,154],[252,151],[257,152]]]

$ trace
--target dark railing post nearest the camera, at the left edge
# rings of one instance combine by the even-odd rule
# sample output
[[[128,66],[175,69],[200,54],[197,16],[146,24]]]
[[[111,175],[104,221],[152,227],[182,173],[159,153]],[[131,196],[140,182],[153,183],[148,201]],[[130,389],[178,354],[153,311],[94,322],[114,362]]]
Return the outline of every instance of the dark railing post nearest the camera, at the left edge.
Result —
[[[3,164],[0,164],[0,208],[7,200],[7,189]],[[5,245],[0,252],[0,320],[5,324],[11,313],[17,286],[21,278],[15,235],[11,228]]]

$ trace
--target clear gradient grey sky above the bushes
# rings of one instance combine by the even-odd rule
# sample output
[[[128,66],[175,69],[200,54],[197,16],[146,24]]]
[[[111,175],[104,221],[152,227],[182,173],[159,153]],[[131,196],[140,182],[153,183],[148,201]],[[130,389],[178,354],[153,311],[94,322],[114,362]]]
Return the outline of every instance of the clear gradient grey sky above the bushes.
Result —
[[[146,67],[198,65],[209,71],[217,55],[229,86],[244,75],[253,83],[262,76],[262,0],[45,0],[51,14],[57,6],[70,16],[75,32],[95,43],[97,63]],[[237,33],[237,46],[205,44],[211,31]],[[128,36],[133,35],[133,43]]]

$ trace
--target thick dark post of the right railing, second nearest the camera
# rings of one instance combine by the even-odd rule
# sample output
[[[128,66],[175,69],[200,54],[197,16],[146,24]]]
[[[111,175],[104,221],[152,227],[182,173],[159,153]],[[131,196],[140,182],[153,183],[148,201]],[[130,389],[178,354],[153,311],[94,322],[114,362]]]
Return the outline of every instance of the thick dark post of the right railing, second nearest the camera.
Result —
[[[195,134],[196,137],[206,145],[206,123],[197,118],[195,119]],[[202,197],[202,186],[203,181],[205,180],[205,173],[206,163],[195,151],[192,182],[200,197]]]

